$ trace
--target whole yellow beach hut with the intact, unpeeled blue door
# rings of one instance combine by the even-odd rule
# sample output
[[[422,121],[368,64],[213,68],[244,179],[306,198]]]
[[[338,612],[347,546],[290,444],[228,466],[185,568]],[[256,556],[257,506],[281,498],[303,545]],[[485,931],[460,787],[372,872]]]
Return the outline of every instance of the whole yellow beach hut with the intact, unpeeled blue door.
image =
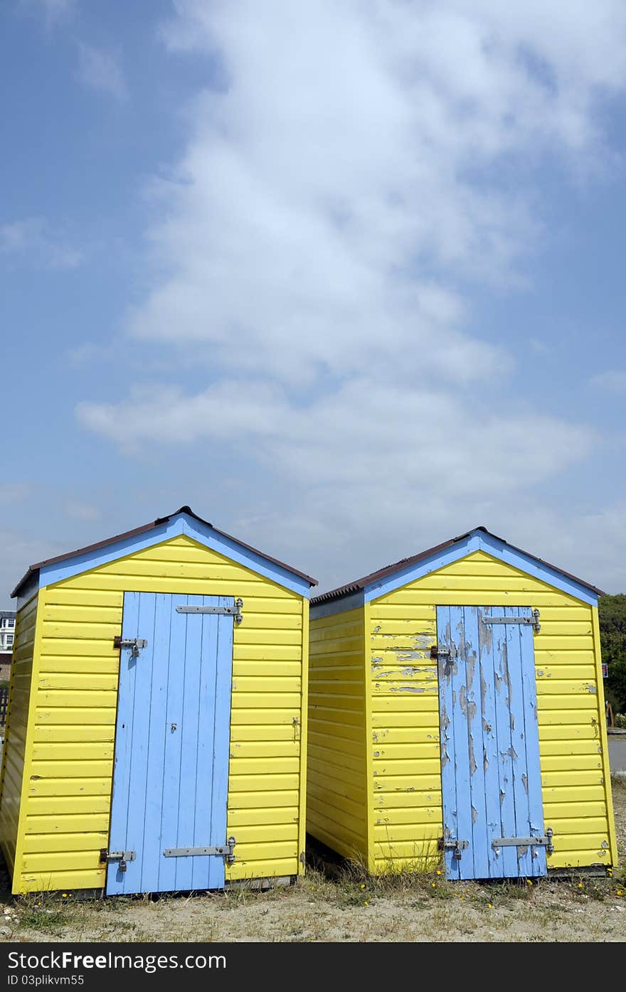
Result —
[[[0,782],[14,893],[304,870],[313,584],[187,506],[31,565]]]

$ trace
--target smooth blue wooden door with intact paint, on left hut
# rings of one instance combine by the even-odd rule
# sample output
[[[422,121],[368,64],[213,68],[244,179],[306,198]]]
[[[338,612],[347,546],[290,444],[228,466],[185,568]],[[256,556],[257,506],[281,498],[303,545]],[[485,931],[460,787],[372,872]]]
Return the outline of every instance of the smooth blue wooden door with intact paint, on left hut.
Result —
[[[171,852],[226,842],[232,607],[124,594],[122,640],[147,645],[120,651],[107,895],[224,887],[222,855]]]

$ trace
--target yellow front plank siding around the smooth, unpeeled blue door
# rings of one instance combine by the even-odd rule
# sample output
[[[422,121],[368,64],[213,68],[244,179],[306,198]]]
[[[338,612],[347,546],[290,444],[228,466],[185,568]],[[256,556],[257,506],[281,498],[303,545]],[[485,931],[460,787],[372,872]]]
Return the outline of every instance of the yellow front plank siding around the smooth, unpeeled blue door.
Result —
[[[119,667],[113,638],[125,591],[242,597],[227,818],[237,846],[226,879],[296,875],[309,601],[181,536],[45,590],[19,890],[104,885],[99,854],[108,841]]]

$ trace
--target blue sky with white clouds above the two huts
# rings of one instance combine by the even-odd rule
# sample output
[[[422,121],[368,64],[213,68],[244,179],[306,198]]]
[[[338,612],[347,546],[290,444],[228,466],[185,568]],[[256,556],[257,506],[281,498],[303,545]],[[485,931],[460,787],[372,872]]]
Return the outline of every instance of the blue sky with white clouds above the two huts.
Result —
[[[623,0],[4,0],[0,606],[188,504],[626,591]]]

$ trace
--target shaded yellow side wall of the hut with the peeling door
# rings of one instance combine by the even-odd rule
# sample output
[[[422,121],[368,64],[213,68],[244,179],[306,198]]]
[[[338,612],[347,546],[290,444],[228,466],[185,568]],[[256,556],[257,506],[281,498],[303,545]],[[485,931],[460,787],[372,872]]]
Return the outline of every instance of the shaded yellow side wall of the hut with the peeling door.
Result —
[[[367,852],[364,654],[363,609],[312,619],[307,823],[346,857]]]

